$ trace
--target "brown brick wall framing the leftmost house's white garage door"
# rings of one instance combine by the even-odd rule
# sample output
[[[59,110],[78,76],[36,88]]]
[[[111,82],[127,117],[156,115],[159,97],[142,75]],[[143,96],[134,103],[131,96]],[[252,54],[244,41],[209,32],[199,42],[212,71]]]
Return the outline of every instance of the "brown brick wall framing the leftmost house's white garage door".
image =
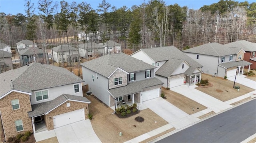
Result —
[[[66,106],[66,103],[68,102],[70,103],[70,107]],[[53,116],[64,114],[67,112],[72,112],[74,110],[78,110],[82,108],[84,108],[84,115],[85,115],[85,118],[87,118],[87,115],[89,113],[88,103],[66,101],[58,108],[52,110],[49,114],[44,115],[45,116],[44,121],[45,121],[46,127],[48,128],[48,130],[54,129]]]

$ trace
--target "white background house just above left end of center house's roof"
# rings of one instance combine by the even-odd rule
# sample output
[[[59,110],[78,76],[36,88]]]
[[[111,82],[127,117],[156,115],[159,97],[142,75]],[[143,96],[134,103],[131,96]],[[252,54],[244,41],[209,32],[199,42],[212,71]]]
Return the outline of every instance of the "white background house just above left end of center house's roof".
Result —
[[[86,58],[97,58],[101,57],[104,52],[104,46],[99,45],[95,42],[88,42],[78,45],[80,57]]]

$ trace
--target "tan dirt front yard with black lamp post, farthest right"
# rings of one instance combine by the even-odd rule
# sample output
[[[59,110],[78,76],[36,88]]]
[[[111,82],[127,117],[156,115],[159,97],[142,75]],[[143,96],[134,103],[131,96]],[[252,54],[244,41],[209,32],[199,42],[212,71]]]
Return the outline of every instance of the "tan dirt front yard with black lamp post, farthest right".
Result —
[[[233,88],[234,81],[225,80],[222,77],[212,77],[212,75],[209,74],[202,74],[202,79],[208,79],[212,87],[196,87],[196,89],[223,102],[254,91],[252,88],[235,83],[236,86],[240,86],[240,91],[238,91]]]

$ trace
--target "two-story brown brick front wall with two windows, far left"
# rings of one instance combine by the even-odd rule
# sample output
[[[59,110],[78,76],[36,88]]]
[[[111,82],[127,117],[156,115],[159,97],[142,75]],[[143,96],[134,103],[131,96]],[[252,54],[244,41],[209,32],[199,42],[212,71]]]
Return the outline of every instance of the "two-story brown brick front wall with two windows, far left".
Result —
[[[28,94],[12,92],[0,100],[0,111],[6,140],[18,133],[25,133],[25,131],[33,133],[32,120],[28,117],[28,112],[32,111],[29,96]],[[11,100],[13,99],[19,100],[20,109],[12,110]],[[17,132],[15,125],[15,121],[18,119],[22,119],[23,123],[23,131],[19,132]]]

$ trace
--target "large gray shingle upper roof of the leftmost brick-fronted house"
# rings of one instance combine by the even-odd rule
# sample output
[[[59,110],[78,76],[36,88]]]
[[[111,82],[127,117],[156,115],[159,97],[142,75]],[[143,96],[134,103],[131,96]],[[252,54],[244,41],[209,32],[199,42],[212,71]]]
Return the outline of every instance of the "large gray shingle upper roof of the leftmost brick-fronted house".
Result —
[[[32,93],[34,90],[83,82],[72,72],[52,65],[32,63],[0,74],[0,96],[12,89]]]

